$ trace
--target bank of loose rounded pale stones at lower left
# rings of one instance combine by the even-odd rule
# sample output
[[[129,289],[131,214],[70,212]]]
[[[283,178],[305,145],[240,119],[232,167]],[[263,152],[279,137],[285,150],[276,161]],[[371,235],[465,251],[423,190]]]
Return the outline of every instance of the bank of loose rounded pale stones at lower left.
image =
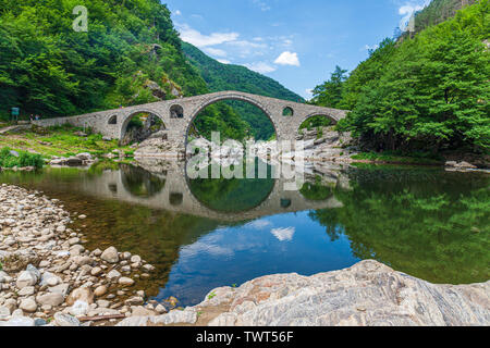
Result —
[[[86,250],[84,235],[56,199],[0,187],[0,326],[93,325],[164,313],[138,281],[155,268],[130,252]]]

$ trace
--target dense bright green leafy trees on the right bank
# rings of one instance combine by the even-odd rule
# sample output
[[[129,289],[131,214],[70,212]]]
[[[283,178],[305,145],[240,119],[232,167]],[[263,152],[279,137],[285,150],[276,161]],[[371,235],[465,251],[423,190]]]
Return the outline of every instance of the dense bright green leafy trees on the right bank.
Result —
[[[480,0],[413,38],[385,39],[340,82],[341,98],[317,88],[316,99],[352,110],[339,127],[373,150],[489,151],[489,20]]]

